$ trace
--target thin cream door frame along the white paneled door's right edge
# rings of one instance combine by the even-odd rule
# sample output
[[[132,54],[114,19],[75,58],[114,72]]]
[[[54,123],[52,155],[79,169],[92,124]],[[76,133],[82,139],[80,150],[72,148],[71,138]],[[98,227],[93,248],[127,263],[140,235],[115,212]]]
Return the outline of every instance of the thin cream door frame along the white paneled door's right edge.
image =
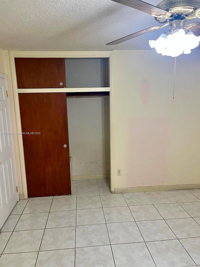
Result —
[[[8,80],[7,80],[7,75],[3,74],[0,72],[0,78],[5,79],[5,83],[6,83],[6,89],[8,90]],[[9,93],[8,93],[8,97],[9,97]],[[13,131],[12,129],[12,114],[11,114],[11,103],[10,103],[10,98],[8,98],[8,115],[9,115],[9,123],[10,123],[10,129],[11,131]],[[11,138],[11,142],[12,142],[12,155],[13,155],[13,176],[15,179],[15,184],[18,187],[18,180],[17,180],[17,166],[16,166],[16,158],[15,158],[15,148],[14,148],[14,140],[13,140],[13,136]],[[19,192],[17,192],[17,201],[19,201]]]

